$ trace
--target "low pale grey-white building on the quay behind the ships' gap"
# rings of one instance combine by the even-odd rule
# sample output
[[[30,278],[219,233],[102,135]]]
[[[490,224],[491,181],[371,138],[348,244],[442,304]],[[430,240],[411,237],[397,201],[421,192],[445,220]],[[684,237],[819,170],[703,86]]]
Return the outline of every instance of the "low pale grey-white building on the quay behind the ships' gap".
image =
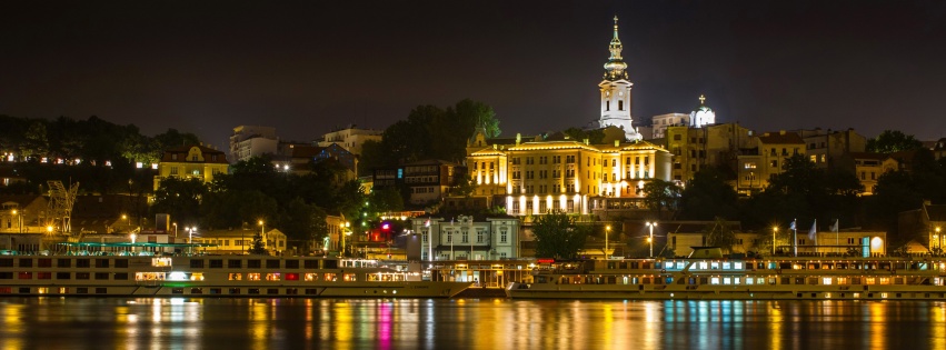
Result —
[[[516,218],[414,218],[411,231],[421,236],[422,261],[518,259],[519,223]]]

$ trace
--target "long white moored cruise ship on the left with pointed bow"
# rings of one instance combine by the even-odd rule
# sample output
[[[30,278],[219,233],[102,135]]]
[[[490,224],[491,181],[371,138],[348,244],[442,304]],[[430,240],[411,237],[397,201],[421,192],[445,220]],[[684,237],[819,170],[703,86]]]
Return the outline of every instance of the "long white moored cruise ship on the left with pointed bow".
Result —
[[[367,259],[132,251],[4,251],[0,297],[451,298],[472,284],[426,281],[407,263]]]

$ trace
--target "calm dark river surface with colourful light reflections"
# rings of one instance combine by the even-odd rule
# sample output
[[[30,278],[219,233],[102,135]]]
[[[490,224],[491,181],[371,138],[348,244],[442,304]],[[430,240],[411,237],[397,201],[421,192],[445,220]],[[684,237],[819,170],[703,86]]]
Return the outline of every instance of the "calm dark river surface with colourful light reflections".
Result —
[[[0,298],[0,349],[946,349],[946,302]]]

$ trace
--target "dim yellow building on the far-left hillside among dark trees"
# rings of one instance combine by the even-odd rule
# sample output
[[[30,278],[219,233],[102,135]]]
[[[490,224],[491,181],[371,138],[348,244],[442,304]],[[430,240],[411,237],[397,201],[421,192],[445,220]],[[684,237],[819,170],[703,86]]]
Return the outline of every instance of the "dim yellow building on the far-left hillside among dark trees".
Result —
[[[227,173],[230,163],[222,151],[203,146],[183,146],[165,151],[158,163],[155,177],[155,190],[161,187],[166,178],[199,179],[203,183],[213,181],[213,177]]]

